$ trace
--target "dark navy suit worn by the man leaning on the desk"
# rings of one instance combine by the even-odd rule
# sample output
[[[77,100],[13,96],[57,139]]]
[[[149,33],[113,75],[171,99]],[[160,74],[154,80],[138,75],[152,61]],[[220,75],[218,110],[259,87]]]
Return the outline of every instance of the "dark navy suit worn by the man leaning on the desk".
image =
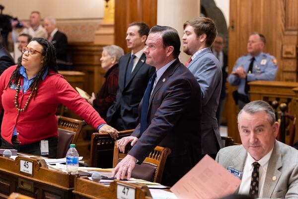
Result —
[[[132,136],[139,139],[129,154],[143,162],[155,146],[170,148],[162,184],[172,186],[201,159],[201,90],[178,59],[156,83],[148,111],[149,126],[142,135],[137,126]]]

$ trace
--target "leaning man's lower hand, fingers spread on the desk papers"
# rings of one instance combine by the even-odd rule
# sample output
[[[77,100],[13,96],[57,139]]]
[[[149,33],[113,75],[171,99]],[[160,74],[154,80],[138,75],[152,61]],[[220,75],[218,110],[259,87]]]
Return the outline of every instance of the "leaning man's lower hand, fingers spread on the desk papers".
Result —
[[[127,155],[112,172],[112,178],[116,177],[117,180],[124,179],[126,172],[127,172],[127,180],[131,178],[132,171],[136,166],[137,159],[134,156]]]

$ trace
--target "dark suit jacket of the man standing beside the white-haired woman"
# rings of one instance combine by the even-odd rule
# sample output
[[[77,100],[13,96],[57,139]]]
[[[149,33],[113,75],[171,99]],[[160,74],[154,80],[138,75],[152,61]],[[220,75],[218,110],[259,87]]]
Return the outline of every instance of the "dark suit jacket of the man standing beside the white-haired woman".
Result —
[[[125,86],[126,70],[130,62],[131,53],[122,56],[119,60],[119,88],[114,104],[108,109],[107,122],[119,126],[116,122],[121,121],[123,129],[134,129],[139,123],[138,107],[142,100],[150,77],[155,68],[146,64],[146,56],[143,54],[133,70],[128,84]]]

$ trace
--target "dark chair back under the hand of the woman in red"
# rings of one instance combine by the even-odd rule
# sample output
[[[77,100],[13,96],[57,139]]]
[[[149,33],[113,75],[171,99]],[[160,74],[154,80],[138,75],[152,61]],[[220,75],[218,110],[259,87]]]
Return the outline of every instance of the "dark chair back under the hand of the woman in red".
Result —
[[[130,136],[135,129],[119,131],[118,139]],[[92,133],[90,167],[112,168],[115,140],[108,133]]]

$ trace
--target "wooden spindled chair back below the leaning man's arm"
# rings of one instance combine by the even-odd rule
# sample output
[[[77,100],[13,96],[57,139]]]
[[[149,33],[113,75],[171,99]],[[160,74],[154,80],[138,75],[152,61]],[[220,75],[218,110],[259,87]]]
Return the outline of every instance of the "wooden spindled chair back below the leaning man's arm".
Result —
[[[132,147],[128,144],[125,153],[120,153],[117,141],[114,146],[113,168],[125,158]],[[156,146],[145,158],[141,165],[136,164],[132,171],[132,178],[143,179],[149,182],[160,183],[167,156],[171,153],[169,148]],[[182,164],[182,163],[181,163]]]

